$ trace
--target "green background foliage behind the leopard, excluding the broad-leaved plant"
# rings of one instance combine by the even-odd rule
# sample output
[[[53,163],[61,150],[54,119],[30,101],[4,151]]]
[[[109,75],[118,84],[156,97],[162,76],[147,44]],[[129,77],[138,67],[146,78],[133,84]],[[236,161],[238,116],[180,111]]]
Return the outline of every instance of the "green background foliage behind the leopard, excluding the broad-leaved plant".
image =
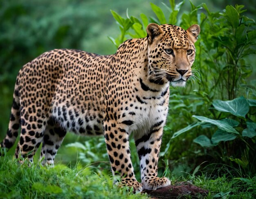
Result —
[[[225,163],[227,168],[239,167],[241,164],[237,162],[238,159],[242,160],[242,156],[231,157],[232,154],[227,153],[246,149],[247,145],[240,144],[237,139],[221,141],[218,146],[202,146],[193,142],[201,135],[212,138],[216,127],[197,126],[175,139],[171,137],[187,125],[197,122],[193,115],[211,119],[225,118],[227,115],[221,116],[213,110],[212,103],[216,99],[233,100],[241,95],[246,98],[256,97],[256,28],[255,22],[250,20],[255,18],[256,2],[243,2],[247,11],[234,4],[239,3],[238,1],[231,0],[207,1],[206,4],[202,3],[205,2],[202,0],[162,2],[0,1],[0,140],[7,130],[18,70],[44,51],[72,48],[98,54],[112,54],[127,38],[146,36],[145,28],[149,22],[167,22],[184,29],[198,23],[201,33],[196,42],[197,55],[193,66],[195,78],[186,89],[171,89],[159,172],[163,173],[165,167],[168,168],[168,176],[184,175],[184,172],[195,174],[198,168],[212,172],[215,165],[211,163]],[[249,114],[250,119],[255,122],[255,107],[252,107]],[[231,119],[235,118],[231,116]],[[247,127],[245,121],[237,120],[241,124],[240,127]],[[75,144],[66,147],[67,143],[76,141],[81,141],[83,145],[80,145],[80,148],[74,147]],[[105,148],[101,145],[100,150],[97,150],[97,145],[94,145],[100,141],[101,138],[89,139],[68,134],[58,151],[56,161],[74,164],[81,158],[81,163],[85,165],[100,161],[101,158],[105,161]],[[253,144],[255,145],[255,137],[252,139],[251,145]],[[138,176],[139,164],[136,161],[134,146],[131,151]],[[252,153],[255,154],[255,148]],[[13,155],[13,150],[9,154]],[[255,159],[249,160],[247,165],[256,165]],[[109,168],[108,163],[99,163],[98,166]],[[245,165],[243,172],[248,171],[248,168]]]

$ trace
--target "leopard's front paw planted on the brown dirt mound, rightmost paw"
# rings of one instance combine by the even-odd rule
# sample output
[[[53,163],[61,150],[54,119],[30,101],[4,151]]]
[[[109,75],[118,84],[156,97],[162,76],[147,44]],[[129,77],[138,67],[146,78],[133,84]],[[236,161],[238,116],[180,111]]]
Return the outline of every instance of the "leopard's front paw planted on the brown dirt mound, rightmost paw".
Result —
[[[156,190],[171,185],[171,181],[166,177],[145,177],[142,181],[143,190]]]

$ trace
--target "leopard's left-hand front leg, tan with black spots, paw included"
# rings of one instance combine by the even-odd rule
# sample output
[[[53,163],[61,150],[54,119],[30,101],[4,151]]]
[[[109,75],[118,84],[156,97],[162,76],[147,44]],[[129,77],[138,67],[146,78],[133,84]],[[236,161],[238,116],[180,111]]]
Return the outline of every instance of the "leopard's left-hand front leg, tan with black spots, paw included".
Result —
[[[133,187],[135,192],[141,192],[142,186],[133,172],[129,149],[129,132],[127,125],[116,121],[104,122],[104,136],[108,157],[113,175],[121,176],[121,184]]]

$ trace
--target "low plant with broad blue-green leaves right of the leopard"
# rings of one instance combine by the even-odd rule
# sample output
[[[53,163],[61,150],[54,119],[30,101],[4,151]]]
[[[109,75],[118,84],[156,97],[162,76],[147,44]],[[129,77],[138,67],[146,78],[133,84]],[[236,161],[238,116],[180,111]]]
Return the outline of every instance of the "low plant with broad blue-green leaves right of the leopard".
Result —
[[[198,143],[204,148],[212,148],[219,145],[218,150],[221,152],[223,159],[234,161],[243,169],[248,169],[249,172],[254,173],[256,171],[256,123],[250,119],[250,109],[252,110],[255,106],[256,100],[244,97],[235,98],[231,101],[214,100],[212,109],[216,110],[214,115],[218,119],[194,115],[193,117],[198,119],[199,122],[175,132],[172,138],[196,126],[200,126],[202,129],[216,129],[217,127],[211,139],[202,134],[195,138],[193,142]],[[238,145],[239,148],[232,147],[232,145],[237,143],[240,143]]]

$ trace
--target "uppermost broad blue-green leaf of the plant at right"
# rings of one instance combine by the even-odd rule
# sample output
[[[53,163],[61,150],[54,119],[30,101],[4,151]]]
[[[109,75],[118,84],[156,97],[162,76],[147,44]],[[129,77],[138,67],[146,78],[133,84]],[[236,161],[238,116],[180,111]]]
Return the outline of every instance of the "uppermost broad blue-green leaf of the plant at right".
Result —
[[[213,106],[218,111],[228,112],[243,118],[245,118],[245,115],[249,112],[249,104],[247,99],[243,96],[231,101],[214,100]]]

